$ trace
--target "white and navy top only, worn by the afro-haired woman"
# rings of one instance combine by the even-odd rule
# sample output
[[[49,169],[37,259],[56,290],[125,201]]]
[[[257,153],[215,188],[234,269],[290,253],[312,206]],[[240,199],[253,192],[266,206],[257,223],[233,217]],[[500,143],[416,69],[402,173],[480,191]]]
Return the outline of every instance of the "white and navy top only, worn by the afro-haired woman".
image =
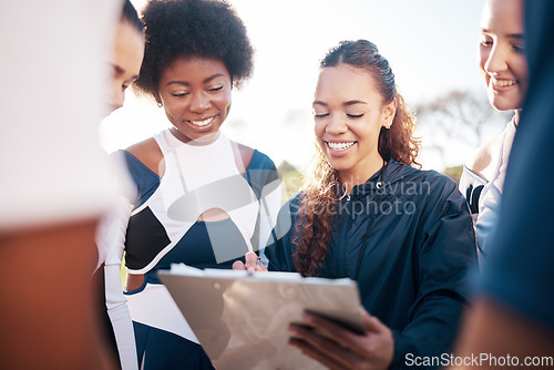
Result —
[[[265,247],[280,206],[280,182],[267,155],[255,151],[240,173],[223,134],[202,146],[185,144],[168,130],[155,140],[164,155],[163,177],[123,152],[137,186],[125,240],[130,274],[155,281],[155,273],[172,263],[230,268],[246,251]],[[229,217],[197,220],[209,208]]]

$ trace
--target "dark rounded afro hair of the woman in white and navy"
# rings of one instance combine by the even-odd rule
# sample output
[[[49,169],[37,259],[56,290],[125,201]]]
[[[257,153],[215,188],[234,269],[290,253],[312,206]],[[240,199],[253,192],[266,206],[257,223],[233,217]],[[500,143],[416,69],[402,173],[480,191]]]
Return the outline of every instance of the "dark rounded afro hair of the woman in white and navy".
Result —
[[[156,97],[162,72],[178,56],[223,61],[239,88],[254,70],[254,49],[234,8],[222,0],[150,0],[142,14],[146,48],[134,90]]]

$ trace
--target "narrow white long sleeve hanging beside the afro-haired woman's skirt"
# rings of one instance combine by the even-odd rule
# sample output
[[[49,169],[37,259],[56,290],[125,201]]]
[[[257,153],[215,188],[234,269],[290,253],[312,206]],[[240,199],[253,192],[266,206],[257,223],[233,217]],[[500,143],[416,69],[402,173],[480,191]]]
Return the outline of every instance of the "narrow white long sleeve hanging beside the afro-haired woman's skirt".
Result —
[[[98,234],[101,256],[105,256],[105,302],[115,335],[122,370],[138,369],[133,322],[127,300],[123,295],[120,273],[132,207],[126,197],[120,196],[112,212],[102,218]]]

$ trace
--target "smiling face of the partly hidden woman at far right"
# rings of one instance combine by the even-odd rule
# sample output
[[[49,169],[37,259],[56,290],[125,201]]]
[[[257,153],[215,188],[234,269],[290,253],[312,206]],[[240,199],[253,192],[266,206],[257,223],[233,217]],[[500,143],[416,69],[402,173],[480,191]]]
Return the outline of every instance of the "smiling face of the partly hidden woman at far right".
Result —
[[[499,111],[520,110],[529,84],[523,44],[523,1],[488,0],[481,19],[481,74]]]

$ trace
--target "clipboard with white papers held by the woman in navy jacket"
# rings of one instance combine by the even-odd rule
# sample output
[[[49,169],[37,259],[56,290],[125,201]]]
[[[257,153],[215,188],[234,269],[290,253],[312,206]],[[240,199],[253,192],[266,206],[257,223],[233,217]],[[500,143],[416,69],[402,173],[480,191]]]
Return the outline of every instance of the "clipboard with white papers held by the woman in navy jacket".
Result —
[[[288,346],[289,323],[301,323],[305,310],[363,332],[358,285],[348,278],[183,264],[158,277],[218,370],[325,369]]]

